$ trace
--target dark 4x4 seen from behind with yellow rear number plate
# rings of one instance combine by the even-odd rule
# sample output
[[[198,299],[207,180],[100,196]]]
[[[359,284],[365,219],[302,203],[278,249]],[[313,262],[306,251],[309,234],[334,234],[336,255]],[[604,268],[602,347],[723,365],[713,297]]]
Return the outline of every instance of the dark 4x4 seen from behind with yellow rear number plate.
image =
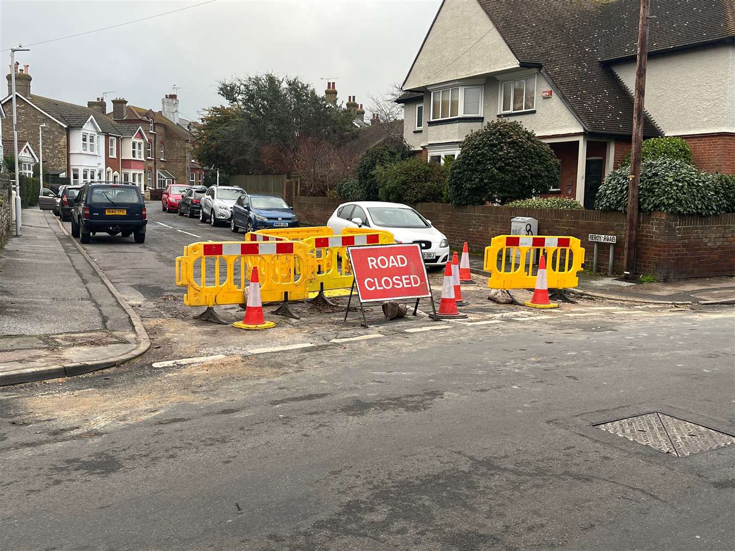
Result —
[[[86,184],[79,190],[71,209],[71,235],[82,243],[90,235],[105,232],[146,240],[146,204],[137,186],[129,184]]]

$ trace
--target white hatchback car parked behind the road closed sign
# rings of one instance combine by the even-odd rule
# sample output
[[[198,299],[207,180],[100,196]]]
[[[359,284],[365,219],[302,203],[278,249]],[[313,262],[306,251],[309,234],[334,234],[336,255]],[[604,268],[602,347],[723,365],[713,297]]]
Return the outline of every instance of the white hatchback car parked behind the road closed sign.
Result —
[[[441,231],[431,226],[408,205],[379,201],[343,203],[329,217],[327,226],[335,234],[344,228],[376,228],[390,231],[395,240],[421,245],[423,262],[427,267],[442,267],[449,260],[449,242]]]

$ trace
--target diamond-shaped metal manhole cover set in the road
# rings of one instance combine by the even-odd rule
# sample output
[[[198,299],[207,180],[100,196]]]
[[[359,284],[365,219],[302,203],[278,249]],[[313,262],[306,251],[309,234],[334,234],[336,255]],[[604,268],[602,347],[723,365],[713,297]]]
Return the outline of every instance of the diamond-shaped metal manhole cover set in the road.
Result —
[[[678,457],[735,444],[735,436],[731,434],[713,431],[658,411],[594,426],[616,436],[623,436],[631,442],[656,448],[663,453],[673,453]]]

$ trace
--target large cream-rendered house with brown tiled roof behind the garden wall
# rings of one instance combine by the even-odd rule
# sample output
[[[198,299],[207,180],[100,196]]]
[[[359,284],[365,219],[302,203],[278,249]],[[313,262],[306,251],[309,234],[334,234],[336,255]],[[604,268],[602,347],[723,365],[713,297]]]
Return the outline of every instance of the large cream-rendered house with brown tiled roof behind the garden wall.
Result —
[[[729,7],[728,7],[729,6]],[[731,0],[651,0],[644,137],[681,136],[703,170],[735,173]],[[520,120],[592,208],[630,151],[638,0],[444,0],[404,80],[404,139],[443,162],[493,118]]]

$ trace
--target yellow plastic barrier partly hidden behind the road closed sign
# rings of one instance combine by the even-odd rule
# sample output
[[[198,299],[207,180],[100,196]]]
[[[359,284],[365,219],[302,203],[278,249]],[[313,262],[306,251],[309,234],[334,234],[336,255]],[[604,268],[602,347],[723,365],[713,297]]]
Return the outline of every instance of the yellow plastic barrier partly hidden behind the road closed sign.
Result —
[[[359,228],[355,228],[359,229]],[[390,231],[353,231],[348,234],[323,237],[307,237],[304,245],[315,257],[315,278],[309,281],[309,291],[344,289],[351,287],[354,275],[347,248],[359,245],[383,245],[392,243]]]

